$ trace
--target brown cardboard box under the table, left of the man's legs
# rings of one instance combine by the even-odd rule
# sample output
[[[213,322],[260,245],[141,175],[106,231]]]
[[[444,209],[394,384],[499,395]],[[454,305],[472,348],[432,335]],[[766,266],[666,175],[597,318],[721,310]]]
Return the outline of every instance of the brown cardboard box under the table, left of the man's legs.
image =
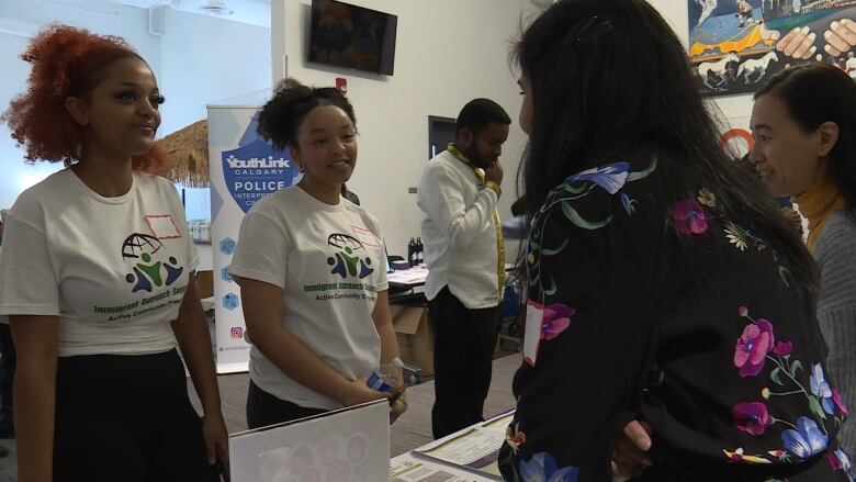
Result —
[[[390,305],[402,361],[433,374],[433,332],[425,306]]]

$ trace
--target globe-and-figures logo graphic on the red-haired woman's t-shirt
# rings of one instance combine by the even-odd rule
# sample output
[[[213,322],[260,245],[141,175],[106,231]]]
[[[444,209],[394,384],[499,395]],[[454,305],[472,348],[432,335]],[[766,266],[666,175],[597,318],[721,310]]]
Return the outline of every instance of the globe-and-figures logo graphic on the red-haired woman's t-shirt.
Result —
[[[132,261],[132,272],[125,280],[133,284],[132,293],[151,292],[155,288],[169,287],[181,277],[184,268],[173,256],[167,257],[164,243],[155,236],[134,233],[122,243],[122,259]],[[166,259],[164,259],[166,258]]]

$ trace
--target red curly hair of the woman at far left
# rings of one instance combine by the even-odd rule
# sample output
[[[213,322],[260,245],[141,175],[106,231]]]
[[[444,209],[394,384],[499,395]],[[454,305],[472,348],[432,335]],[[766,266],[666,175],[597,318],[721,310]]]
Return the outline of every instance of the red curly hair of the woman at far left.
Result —
[[[33,65],[27,88],[12,100],[0,121],[9,124],[12,137],[24,146],[27,162],[65,165],[80,160],[86,136],[66,110],[66,99],[86,97],[117,60],[145,61],[121,37],[56,24],[40,31],[21,58]],[[162,154],[154,147],[133,158],[134,168],[143,170],[157,170],[162,161]]]

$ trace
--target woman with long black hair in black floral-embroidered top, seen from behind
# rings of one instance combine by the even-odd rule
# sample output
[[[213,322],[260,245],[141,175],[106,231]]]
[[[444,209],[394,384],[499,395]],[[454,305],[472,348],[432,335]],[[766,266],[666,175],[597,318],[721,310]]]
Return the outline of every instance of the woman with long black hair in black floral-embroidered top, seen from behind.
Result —
[[[533,208],[509,481],[848,480],[809,253],[719,145],[683,45],[643,0],[562,0],[515,49]]]

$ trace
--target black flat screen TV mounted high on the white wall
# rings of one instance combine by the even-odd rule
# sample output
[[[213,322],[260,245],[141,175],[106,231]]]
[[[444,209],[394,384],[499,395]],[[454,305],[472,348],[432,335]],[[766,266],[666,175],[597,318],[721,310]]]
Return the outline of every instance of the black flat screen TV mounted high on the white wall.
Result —
[[[398,18],[337,0],[312,1],[309,61],[393,75]]]

